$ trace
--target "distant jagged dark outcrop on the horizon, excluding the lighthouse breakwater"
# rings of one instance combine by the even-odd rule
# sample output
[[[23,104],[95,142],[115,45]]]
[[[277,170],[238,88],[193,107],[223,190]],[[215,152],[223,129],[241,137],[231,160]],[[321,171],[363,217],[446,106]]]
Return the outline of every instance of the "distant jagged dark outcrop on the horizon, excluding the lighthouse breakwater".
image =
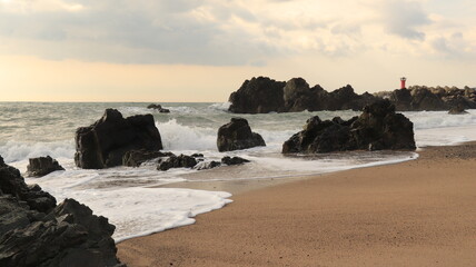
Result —
[[[309,87],[303,78],[287,82],[258,77],[232,92],[229,111],[235,113],[298,112],[303,110],[361,110],[378,100],[370,93],[357,95],[351,86],[328,92],[319,85]]]

